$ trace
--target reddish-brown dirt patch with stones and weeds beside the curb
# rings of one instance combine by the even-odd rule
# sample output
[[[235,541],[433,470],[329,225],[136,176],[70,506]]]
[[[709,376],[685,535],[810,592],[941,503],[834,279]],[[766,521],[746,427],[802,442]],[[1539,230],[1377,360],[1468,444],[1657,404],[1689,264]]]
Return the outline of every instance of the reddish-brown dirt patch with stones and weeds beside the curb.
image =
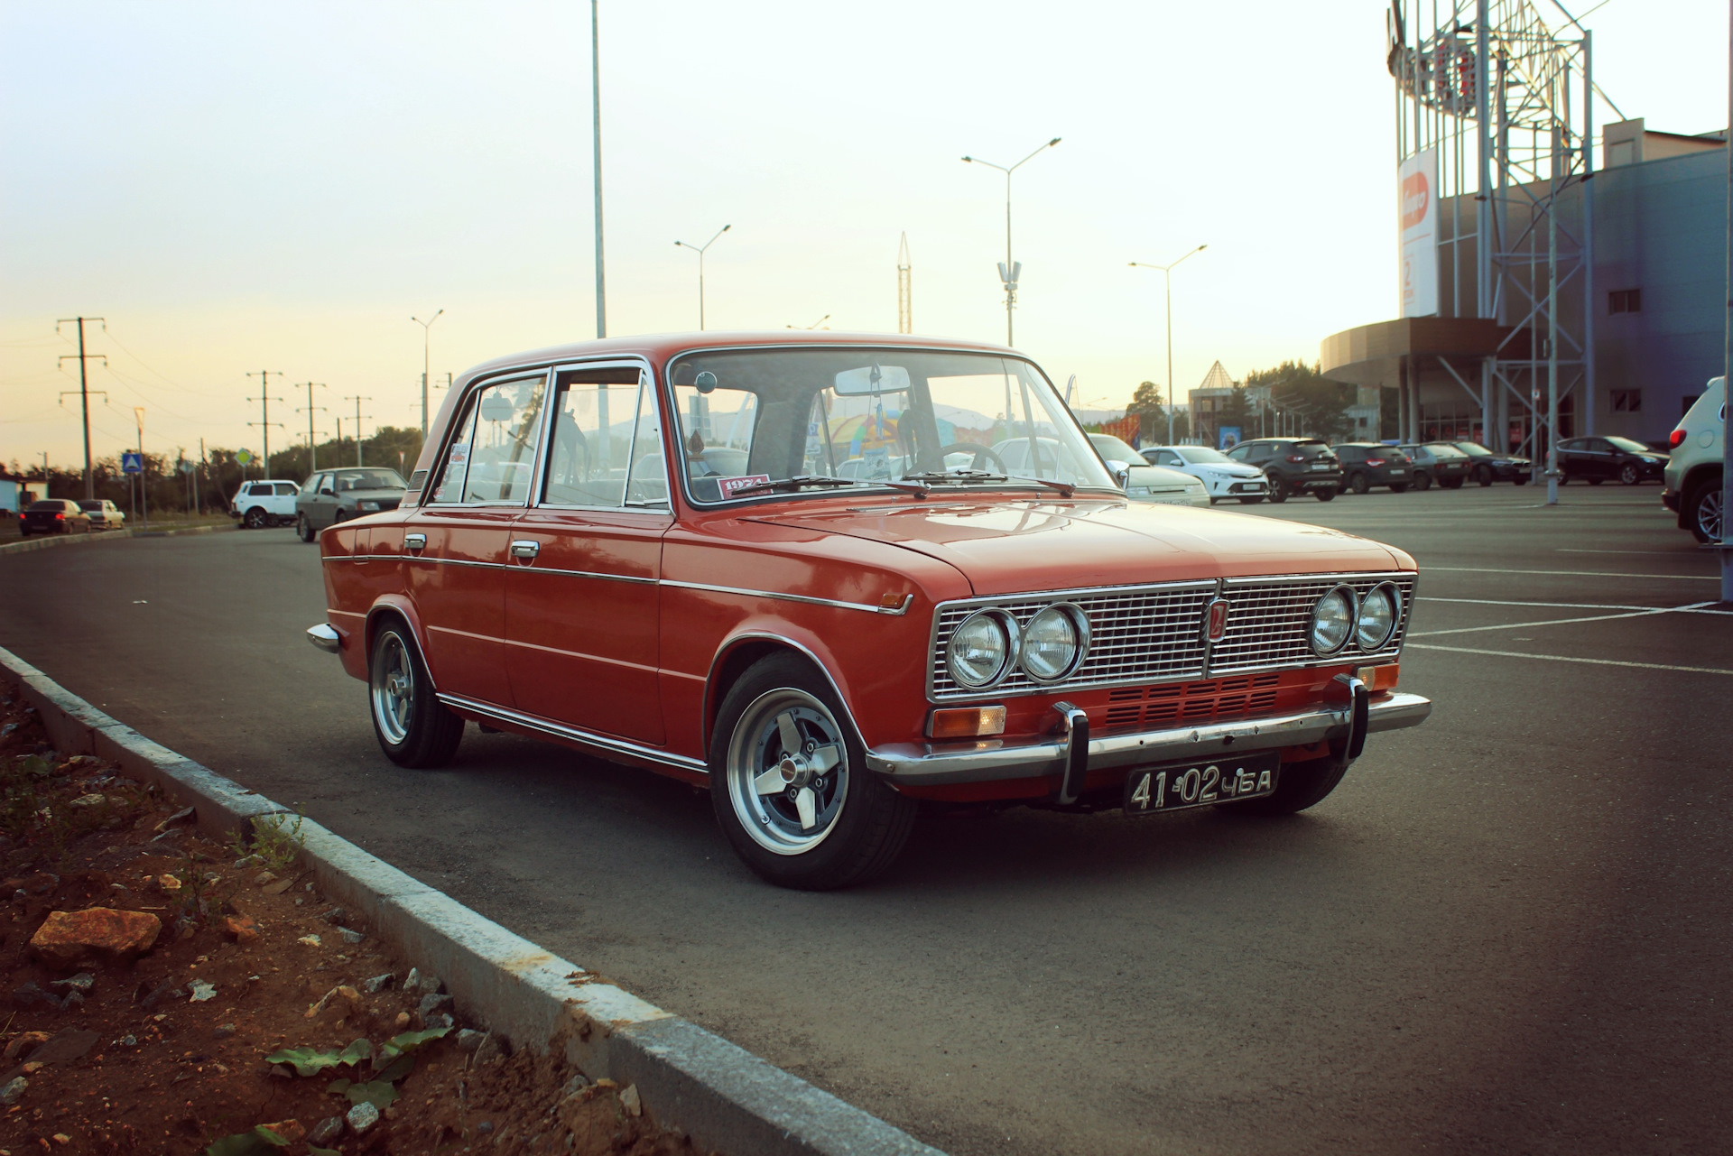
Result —
[[[697,1156],[634,1087],[456,1019],[293,839],[199,835],[5,681],[0,790],[0,1156]]]

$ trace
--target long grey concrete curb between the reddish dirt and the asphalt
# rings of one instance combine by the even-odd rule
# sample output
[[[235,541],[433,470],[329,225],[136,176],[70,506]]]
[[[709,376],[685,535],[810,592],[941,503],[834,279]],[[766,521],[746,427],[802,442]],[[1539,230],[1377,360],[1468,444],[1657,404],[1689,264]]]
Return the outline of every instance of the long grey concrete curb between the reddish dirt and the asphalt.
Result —
[[[296,830],[324,894],[444,979],[466,1016],[516,1047],[560,1049],[591,1080],[636,1083],[652,1114],[698,1146],[731,1156],[943,1156],[151,742],[3,648],[0,669],[17,679],[57,750],[101,756],[130,778],[158,785],[165,797],[192,806],[194,822],[210,835],[227,837],[253,818]]]

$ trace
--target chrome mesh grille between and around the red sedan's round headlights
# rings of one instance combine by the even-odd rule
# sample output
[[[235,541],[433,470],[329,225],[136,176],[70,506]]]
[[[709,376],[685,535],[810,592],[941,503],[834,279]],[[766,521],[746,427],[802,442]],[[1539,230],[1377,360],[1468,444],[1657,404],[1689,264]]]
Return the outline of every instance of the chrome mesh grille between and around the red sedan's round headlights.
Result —
[[[1315,657],[1307,643],[1312,605],[1334,586],[1348,586],[1355,594],[1366,594],[1379,582],[1393,582],[1402,591],[1402,617],[1390,643],[1376,653],[1364,653],[1348,643],[1348,648],[1340,655]],[[1409,605],[1414,596],[1412,574],[1307,574],[1275,579],[1227,579],[1220,586],[1222,596],[1229,600],[1227,631],[1208,652],[1203,641],[1203,614],[1210,600],[1215,598],[1218,588],[1215,581],[943,603],[932,622],[929,695],[936,700],[995,698],[1085,686],[1163,683],[1196,679],[1206,674],[1215,678],[1281,667],[1393,659],[1402,646]],[[1021,669],[1012,667],[1000,683],[988,690],[969,690],[951,679],[944,669],[944,652],[951,633],[964,619],[984,607],[998,607],[1016,617],[1019,626],[1028,626],[1043,607],[1055,601],[1076,603],[1088,615],[1088,653],[1071,678],[1061,683],[1036,683]]]

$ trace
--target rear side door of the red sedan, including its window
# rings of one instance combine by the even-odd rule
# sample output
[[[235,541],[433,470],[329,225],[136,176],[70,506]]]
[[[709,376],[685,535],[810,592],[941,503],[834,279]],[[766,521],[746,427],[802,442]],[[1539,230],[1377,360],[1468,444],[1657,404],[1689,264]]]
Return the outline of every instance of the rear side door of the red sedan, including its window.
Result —
[[[426,499],[404,522],[404,572],[433,685],[510,707],[506,558],[529,503],[548,371],[477,383],[452,421]],[[333,492],[333,506],[336,494]]]

